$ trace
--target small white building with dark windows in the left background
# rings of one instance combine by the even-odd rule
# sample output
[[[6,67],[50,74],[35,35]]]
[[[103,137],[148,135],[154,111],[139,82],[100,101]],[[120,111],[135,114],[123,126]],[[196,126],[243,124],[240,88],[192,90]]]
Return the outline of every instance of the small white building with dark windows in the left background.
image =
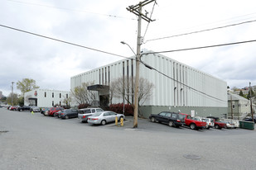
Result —
[[[65,105],[64,99],[70,97],[70,92],[36,89],[24,94],[24,105],[51,107],[55,105]]]

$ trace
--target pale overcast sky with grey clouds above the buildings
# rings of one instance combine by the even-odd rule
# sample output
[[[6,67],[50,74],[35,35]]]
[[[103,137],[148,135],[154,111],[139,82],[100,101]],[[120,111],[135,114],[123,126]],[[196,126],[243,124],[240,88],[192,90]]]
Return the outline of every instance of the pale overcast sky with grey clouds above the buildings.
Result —
[[[130,57],[136,51],[137,17],[126,7],[138,0],[2,0],[0,25]],[[151,15],[142,49],[178,50],[256,40],[255,0],[157,0],[143,8]],[[233,24],[243,23],[237,26]],[[120,57],[66,45],[0,26],[0,91],[7,96],[15,82],[32,78],[42,89],[70,91],[70,77],[118,61]],[[228,26],[212,31],[193,31]],[[145,34],[147,28],[147,32]],[[180,35],[170,37],[172,35]],[[162,37],[169,37],[159,39]],[[204,50],[165,53],[227,82],[229,87],[256,85],[256,42]]]

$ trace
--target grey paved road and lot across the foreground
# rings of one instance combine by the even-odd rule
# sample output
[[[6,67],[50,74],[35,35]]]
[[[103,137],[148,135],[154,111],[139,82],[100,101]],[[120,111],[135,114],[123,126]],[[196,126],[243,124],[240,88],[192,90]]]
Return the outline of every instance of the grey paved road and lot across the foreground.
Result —
[[[0,108],[0,169],[256,168],[255,130],[132,124],[131,117],[123,127],[101,126]]]

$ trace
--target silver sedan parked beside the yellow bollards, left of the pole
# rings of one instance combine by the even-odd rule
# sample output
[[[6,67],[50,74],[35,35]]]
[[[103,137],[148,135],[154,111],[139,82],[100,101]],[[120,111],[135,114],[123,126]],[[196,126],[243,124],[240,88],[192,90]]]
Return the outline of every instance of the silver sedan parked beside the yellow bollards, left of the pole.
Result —
[[[118,116],[118,120],[121,120],[121,118],[125,119],[123,114],[118,114],[114,111],[101,111],[94,113],[93,116],[89,116],[88,123],[106,125],[107,123],[114,122],[116,116]]]

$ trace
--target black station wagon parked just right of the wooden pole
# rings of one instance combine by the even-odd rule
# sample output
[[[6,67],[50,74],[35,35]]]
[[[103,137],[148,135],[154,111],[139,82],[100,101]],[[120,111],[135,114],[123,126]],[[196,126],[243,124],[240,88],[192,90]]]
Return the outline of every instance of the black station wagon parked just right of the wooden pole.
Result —
[[[184,124],[184,116],[170,111],[162,111],[157,115],[152,114],[149,116],[149,119],[152,122],[165,123],[170,125],[171,127],[176,126],[179,127]]]

